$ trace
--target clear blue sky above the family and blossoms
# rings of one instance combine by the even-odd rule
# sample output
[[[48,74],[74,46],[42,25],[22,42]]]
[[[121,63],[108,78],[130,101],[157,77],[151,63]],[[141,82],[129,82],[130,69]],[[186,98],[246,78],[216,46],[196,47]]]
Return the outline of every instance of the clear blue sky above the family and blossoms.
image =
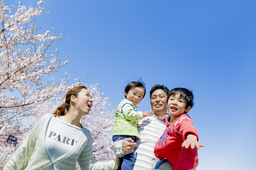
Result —
[[[5,4],[16,9],[18,1]],[[196,169],[255,169],[255,0],[51,0],[42,7],[50,12],[36,25],[69,37],[52,53],[75,61],[52,74],[55,82],[65,72],[71,80],[93,73],[86,83],[99,83],[116,107],[127,82],[142,76],[138,111],[150,109],[155,84],[192,89],[189,115],[205,145]]]

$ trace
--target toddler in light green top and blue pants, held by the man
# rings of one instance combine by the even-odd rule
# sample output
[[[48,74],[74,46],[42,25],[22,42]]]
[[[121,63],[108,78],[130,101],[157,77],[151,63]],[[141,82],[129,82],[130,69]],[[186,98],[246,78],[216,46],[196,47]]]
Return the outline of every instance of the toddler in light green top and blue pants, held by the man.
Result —
[[[140,125],[138,120],[143,117],[150,116],[148,111],[136,111],[137,104],[141,102],[146,93],[146,88],[143,82],[130,82],[124,89],[125,98],[120,102],[116,109],[116,121],[113,128],[113,142],[120,141],[125,138],[132,138],[133,142],[135,137],[140,138],[138,131]],[[134,152],[126,154],[120,158],[120,166],[118,170],[132,170],[134,161]]]

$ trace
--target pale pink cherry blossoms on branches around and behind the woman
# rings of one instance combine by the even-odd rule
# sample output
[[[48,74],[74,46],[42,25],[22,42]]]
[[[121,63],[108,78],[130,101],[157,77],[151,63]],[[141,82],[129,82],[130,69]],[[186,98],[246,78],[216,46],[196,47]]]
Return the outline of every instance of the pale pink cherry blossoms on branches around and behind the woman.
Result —
[[[80,78],[70,83],[66,77],[60,83],[42,81],[42,76],[50,76],[68,61],[61,61],[48,50],[62,35],[52,36],[52,30],[38,33],[32,18],[47,13],[40,0],[34,7],[20,3],[15,14],[0,0],[0,125],[6,131],[0,135],[14,135],[18,145],[0,146],[0,169],[14,154],[17,147],[28,136],[34,124],[46,113],[53,113],[63,102],[64,94],[72,87],[82,85]],[[42,31],[42,30],[41,30]],[[94,100],[90,115],[81,123],[92,133],[93,153],[96,160],[113,159],[110,150],[114,111],[108,99],[102,99],[98,84],[90,85],[89,91]],[[10,92],[18,94],[12,96]]]

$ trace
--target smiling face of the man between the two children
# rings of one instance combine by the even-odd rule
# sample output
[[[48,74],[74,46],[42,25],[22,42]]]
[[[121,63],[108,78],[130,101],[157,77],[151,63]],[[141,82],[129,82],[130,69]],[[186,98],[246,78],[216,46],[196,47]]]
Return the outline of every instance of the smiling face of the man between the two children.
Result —
[[[167,110],[167,95],[162,89],[157,89],[152,93],[150,100],[151,108],[154,113],[164,112]]]

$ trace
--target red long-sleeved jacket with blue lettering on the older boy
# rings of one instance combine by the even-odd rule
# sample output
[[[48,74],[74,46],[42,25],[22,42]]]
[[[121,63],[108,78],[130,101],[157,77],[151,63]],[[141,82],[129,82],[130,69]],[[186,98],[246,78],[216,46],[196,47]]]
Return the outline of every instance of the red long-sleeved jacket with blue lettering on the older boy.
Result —
[[[154,148],[158,159],[166,158],[172,163],[174,170],[190,170],[198,166],[197,148],[182,148],[187,133],[194,133],[198,140],[196,128],[188,114],[181,115],[172,124],[168,125],[166,117],[166,129]]]

